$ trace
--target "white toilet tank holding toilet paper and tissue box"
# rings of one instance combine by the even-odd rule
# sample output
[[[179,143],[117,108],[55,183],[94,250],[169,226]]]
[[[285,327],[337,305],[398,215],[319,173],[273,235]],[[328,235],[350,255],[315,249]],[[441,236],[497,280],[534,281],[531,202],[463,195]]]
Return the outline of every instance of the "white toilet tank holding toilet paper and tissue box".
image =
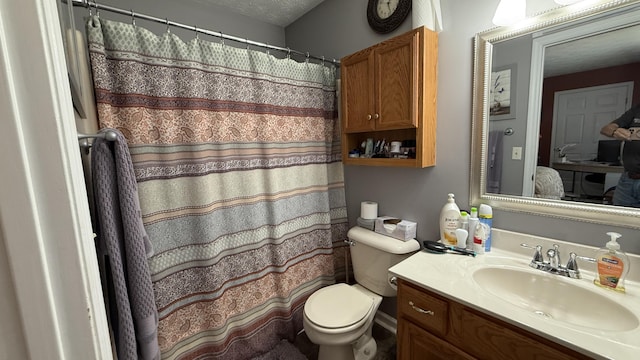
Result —
[[[420,250],[420,244],[414,239],[398,240],[359,226],[352,227],[347,237],[352,242],[351,262],[356,282],[378,295],[396,296],[396,290],[387,282],[388,270]]]

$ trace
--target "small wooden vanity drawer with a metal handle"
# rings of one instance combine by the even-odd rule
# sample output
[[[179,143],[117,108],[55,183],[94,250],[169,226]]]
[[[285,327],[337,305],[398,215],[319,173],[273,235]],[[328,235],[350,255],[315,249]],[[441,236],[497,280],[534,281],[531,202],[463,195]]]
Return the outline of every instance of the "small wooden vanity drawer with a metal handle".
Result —
[[[436,334],[447,333],[449,303],[402,280],[398,281],[398,311],[399,316],[410,318]]]

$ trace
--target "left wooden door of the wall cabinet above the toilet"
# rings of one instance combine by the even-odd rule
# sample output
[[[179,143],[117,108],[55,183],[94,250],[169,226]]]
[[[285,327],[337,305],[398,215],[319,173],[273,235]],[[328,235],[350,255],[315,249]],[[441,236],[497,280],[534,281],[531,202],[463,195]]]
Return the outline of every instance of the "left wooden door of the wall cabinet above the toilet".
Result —
[[[345,133],[375,129],[373,59],[373,51],[365,49],[342,60],[340,77]]]

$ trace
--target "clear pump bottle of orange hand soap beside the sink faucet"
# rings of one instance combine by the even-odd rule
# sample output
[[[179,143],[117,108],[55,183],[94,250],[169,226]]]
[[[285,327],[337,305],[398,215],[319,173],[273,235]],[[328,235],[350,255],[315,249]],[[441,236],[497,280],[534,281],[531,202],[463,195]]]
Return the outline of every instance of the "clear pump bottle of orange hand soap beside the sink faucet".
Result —
[[[629,272],[629,258],[620,250],[618,238],[622,235],[608,232],[611,238],[596,256],[598,276],[593,283],[611,290],[624,292],[624,278]]]

